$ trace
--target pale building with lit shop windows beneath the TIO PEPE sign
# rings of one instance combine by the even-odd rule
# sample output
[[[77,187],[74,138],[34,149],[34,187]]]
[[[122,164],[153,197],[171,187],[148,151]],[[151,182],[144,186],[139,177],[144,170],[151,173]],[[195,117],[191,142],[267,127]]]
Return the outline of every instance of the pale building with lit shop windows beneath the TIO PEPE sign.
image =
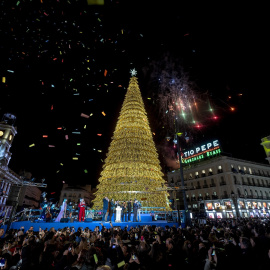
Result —
[[[270,216],[270,165],[216,156],[183,168],[191,218]],[[168,187],[179,209],[179,170],[169,172]]]

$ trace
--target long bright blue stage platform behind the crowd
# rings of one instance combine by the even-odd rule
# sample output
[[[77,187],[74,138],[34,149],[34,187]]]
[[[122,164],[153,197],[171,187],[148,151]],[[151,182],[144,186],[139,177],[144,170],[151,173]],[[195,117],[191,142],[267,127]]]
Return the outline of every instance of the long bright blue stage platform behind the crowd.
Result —
[[[38,231],[39,228],[44,229],[50,229],[51,227],[54,227],[55,230],[58,230],[60,228],[65,228],[65,227],[74,227],[75,230],[77,231],[78,228],[86,228],[88,227],[90,230],[94,230],[96,226],[98,226],[100,229],[102,228],[101,223],[106,228],[110,228],[110,223],[109,222],[102,222],[102,221],[92,221],[92,222],[33,222],[33,221],[17,221],[13,222],[10,226],[10,229],[20,229],[21,227],[24,227],[24,230],[28,230],[31,226],[34,227],[34,231]],[[130,227],[136,227],[136,226],[143,226],[143,225],[155,225],[157,227],[165,227],[168,225],[169,227],[176,226],[179,227],[179,223],[177,222],[167,222],[166,220],[157,220],[157,221],[142,221],[142,222],[112,222],[113,226],[121,227],[121,229],[124,229],[128,225],[128,228]]]

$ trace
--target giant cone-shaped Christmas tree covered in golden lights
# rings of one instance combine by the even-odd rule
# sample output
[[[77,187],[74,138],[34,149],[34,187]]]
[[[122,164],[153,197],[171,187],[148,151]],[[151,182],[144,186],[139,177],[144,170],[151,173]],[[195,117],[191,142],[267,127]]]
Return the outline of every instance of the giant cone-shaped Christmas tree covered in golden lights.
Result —
[[[169,210],[162,177],[137,78],[131,77],[99,178],[94,208],[102,209],[102,200],[107,196],[115,201],[136,198],[143,207]]]

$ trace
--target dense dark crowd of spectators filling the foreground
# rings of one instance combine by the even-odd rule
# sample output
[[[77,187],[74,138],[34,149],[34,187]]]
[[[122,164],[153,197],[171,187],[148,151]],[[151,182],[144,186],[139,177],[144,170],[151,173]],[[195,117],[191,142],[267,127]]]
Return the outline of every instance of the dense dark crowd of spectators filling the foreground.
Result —
[[[270,269],[270,220],[207,220],[192,226],[11,229],[0,242],[1,269]]]

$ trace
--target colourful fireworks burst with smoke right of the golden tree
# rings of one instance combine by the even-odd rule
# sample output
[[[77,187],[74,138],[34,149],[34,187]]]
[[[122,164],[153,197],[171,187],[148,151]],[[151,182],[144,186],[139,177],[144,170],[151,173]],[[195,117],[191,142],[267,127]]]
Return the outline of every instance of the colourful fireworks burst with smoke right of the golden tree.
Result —
[[[177,168],[179,163],[175,135],[181,132],[185,146],[193,144],[198,131],[208,126],[209,121],[218,118],[214,113],[214,103],[207,92],[202,93],[197,85],[189,80],[176,59],[169,56],[164,57],[162,63],[153,63],[150,80],[151,88],[157,89],[153,94],[154,100],[158,105],[160,123],[166,132],[163,158],[169,167]],[[168,155],[165,149],[168,148],[168,143],[171,143],[174,157]],[[172,163],[175,166],[172,166]]]

